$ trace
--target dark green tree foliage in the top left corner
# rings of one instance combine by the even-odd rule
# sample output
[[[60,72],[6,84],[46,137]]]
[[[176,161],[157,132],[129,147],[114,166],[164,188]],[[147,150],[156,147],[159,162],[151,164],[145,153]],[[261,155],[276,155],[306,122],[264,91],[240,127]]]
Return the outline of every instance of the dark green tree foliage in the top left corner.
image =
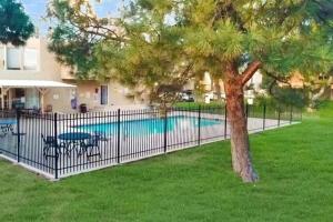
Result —
[[[0,42],[24,44],[34,31],[23,6],[16,0],[0,0]]]

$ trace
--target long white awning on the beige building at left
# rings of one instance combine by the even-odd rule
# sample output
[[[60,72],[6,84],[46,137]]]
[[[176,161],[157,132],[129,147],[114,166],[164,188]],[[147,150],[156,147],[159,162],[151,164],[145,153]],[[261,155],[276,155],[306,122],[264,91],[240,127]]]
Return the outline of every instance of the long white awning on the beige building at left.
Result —
[[[0,80],[0,88],[75,88],[77,85],[48,80]]]

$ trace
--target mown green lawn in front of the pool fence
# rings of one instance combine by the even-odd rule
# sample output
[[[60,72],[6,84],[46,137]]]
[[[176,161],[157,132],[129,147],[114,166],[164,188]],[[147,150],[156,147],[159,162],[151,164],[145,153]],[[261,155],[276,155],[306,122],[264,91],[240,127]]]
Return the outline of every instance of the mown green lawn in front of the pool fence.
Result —
[[[53,183],[0,161],[0,221],[333,220],[333,103],[251,142],[256,184],[232,173],[228,142]]]

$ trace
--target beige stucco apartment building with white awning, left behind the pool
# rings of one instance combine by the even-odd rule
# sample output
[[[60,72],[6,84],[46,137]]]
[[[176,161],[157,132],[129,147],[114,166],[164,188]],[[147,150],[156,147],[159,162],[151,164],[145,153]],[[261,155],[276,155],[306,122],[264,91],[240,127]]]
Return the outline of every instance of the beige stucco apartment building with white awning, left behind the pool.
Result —
[[[0,44],[1,109],[75,112],[141,104],[130,90],[112,81],[79,81],[48,51],[47,39],[31,38],[24,47]]]

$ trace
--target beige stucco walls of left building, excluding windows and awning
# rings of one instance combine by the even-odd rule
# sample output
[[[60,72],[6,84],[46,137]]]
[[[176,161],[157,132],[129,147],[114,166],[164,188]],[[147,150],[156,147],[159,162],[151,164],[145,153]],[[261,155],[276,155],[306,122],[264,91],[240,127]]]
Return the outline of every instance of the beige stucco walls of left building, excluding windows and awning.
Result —
[[[31,38],[28,40],[26,48],[38,51],[37,70],[3,70],[0,67],[0,80],[50,80],[77,85],[77,89],[49,89],[44,95],[44,108],[51,105],[53,111],[75,112],[78,110],[73,110],[71,105],[74,98],[77,98],[78,105],[85,103],[90,110],[109,109],[112,105],[141,104],[143,102],[137,99],[129,99],[129,90],[118,83],[109,81],[103,83],[98,81],[77,81],[71,74],[71,70],[59,64],[54,54],[48,51],[46,39]],[[6,60],[6,57],[1,59]],[[3,64],[3,62],[0,63]],[[107,105],[101,104],[101,85],[108,85]]]

